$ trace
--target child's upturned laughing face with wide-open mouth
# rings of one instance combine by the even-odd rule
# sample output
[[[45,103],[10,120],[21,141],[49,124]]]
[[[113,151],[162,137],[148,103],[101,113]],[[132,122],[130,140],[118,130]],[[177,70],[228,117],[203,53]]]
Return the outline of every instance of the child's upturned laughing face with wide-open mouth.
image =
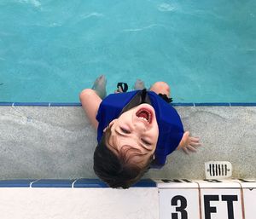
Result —
[[[145,164],[154,154],[159,129],[154,108],[141,104],[114,119],[108,148],[119,156],[120,151],[131,159],[130,163]],[[105,131],[105,130],[104,130]]]

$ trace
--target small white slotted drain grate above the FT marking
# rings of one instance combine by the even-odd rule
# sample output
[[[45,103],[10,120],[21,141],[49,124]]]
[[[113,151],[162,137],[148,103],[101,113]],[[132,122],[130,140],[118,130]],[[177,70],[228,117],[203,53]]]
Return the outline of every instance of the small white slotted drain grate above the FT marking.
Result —
[[[205,163],[207,179],[225,179],[232,176],[232,164],[229,161],[209,161]]]

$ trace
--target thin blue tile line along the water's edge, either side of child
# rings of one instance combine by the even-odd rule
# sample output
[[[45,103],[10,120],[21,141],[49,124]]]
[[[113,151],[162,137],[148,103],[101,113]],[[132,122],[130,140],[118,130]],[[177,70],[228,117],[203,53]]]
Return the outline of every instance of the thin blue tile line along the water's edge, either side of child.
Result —
[[[0,102],[0,107],[81,107],[79,102]],[[173,107],[256,107],[256,102],[172,103]]]

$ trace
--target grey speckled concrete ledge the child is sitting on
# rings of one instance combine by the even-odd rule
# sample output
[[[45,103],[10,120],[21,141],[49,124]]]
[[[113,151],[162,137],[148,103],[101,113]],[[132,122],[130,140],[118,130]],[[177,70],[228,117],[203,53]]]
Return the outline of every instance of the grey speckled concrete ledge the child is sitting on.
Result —
[[[256,107],[175,107],[197,153],[172,153],[145,178],[203,179],[204,163],[230,161],[233,177],[256,177]],[[0,107],[0,179],[96,178],[96,131],[82,107]]]

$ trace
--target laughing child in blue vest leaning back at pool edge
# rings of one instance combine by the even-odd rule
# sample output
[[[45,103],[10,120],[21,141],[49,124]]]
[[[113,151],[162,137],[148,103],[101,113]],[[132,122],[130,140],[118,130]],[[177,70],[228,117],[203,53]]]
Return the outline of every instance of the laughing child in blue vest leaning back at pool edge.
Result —
[[[106,79],[80,93],[90,123],[97,130],[94,170],[110,187],[130,187],[150,167],[161,167],[175,149],[196,152],[199,138],[183,131],[171,101],[170,87],[156,82],[149,91],[137,80],[135,91],[106,95]],[[167,101],[167,102],[166,102]]]

